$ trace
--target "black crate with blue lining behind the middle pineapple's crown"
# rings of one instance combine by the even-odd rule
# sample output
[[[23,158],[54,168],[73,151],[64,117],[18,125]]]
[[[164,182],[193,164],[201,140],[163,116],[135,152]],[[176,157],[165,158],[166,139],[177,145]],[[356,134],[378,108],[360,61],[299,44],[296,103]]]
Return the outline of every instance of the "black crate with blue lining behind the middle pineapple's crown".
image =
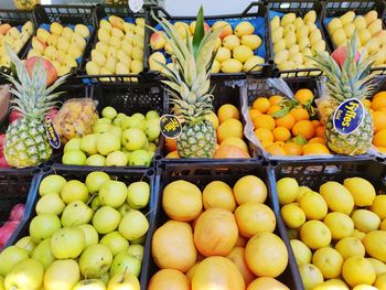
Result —
[[[181,15],[171,15],[168,11],[165,11],[162,7],[151,7],[148,10],[148,19],[147,23],[150,24],[152,28],[159,29],[160,25],[158,22],[152,18],[152,13],[157,18],[165,18],[169,20],[171,23],[174,23],[176,21],[185,22],[185,23],[191,23],[192,21],[195,21],[195,17],[181,17]],[[251,2],[242,13],[239,14],[226,14],[226,15],[204,15],[204,20],[207,24],[213,25],[214,22],[216,21],[227,21],[233,29],[242,22],[242,21],[253,21],[254,26],[255,26],[255,34],[258,34],[262,41],[261,45],[254,52],[255,55],[259,55],[265,58],[266,63],[262,64],[262,68],[259,72],[249,72],[249,73],[215,73],[212,74],[212,78],[221,78],[221,79],[240,79],[240,78],[246,78],[247,75],[253,75],[256,77],[260,77],[264,75],[271,75],[271,54],[270,54],[270,49],[269,49],[269,41],[268,41],[268,35],[267,35],[267,30],[266,30],[266,23],[267,23],[267,8],[264,3],[260,2]],[[150,43],[150,36],[151,32],[148,34],[148,40],[147,43]],[[150,45],[147,45],[146,49],[148,50],[144,54],[148,56],[147,62],[147,67],[149,68],[149,57],[152,54],[152,51]],[[165,55],[164,50],[159,50],[162,54]],[[169,57],[170,58],[170,57]],[[170,62],[170,60],[169,60]],[[168,63],[168,57],[167,57],[167,63]],[[150,68],[149,68],[150,69]],[[154,71],[149,71],[150,74],[158,75],[161,77],[159,72]]]

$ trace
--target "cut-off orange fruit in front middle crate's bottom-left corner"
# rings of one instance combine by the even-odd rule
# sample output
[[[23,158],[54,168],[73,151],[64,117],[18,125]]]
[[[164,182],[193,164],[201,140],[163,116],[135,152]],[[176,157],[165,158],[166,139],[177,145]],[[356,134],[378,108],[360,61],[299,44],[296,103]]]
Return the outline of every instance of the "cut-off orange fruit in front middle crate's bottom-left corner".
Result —
[[[186,276],[174,269],[159,270],[148,284],[148,290],[190,290],[190,288]]]

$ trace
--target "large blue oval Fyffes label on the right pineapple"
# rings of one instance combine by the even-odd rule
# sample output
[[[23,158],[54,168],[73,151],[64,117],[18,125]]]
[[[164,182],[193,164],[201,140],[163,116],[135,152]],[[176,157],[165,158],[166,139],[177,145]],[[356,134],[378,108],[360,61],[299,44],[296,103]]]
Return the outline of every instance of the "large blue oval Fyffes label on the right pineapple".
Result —
[[[340,135],[354,132],[362,123],[364,107],[361,100],[352,98],[343,101],[334,112],[333,125]]]

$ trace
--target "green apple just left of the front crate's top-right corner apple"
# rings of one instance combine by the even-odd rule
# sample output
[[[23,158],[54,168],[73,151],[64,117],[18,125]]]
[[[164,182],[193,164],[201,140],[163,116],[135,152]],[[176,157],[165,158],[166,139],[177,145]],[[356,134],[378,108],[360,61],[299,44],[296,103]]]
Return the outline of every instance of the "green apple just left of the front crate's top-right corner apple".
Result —
[[[127,198],[126,184],[116,180],[106,181],[99,190],[99,198],[103,205],[119,207]]]

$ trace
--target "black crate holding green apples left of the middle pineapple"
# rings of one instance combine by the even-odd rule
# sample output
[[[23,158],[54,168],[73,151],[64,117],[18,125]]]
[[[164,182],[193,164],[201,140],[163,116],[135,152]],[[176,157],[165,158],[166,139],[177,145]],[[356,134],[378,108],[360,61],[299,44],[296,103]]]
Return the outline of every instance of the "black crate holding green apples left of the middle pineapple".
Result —
[[[148,110],[157,110],[160,115],[168,110],[165,93],[160,84],[154,83],[136,83],[136,84],[99,84],[95,86],[73,85],[69,94],[64,95],[67,98],[89,97],[97,101],[97,110],[100,111],[107,106],[114,107],[118,112],[132,115],[136,112],[146,114]],[[160,150],[161,138],[159,139],[158,150],[154,155],[158,155]],[[85,168],[62,164],[62,152],[57,152],[49,165],[54,165],[60,169]],[[150,164],[151,167],[151,164]],[[148,169],[149,167],[130,167],[136,169]],[[93,167],[94,170],[103,170],[106,167]],[[116,169],[126,169],[126,167],[117,167]]]

